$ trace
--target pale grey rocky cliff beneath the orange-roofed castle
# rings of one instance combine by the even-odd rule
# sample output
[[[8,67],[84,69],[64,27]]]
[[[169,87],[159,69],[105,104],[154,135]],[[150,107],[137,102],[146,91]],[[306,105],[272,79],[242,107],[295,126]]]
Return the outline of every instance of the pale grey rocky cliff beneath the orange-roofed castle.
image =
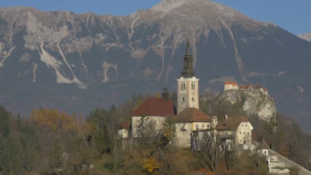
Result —
[[[247,115],[258,115],[265,121],[276,115],[273,98],[259,90],[227,90],[218,97],[218,101],[239,102]]]

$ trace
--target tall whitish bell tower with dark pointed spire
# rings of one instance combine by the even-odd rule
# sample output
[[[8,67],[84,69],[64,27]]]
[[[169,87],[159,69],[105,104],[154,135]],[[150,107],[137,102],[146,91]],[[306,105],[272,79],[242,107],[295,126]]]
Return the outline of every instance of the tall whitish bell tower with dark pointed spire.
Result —
[[[193,70],[193,58],[190,54],[190,43],[187,41],[187,49],[184,57],[184,69],[181,77],[177,79],[177,114],[188,107],[198,107],[198,80]]]

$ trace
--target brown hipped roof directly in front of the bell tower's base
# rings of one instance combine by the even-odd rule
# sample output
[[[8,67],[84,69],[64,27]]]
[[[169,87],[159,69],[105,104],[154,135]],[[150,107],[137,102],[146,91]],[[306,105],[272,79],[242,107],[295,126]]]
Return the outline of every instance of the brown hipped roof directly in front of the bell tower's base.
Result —
[[[180,123],[180,122],[211,122],[212,118],[207,114],[199,111],[195,107],[188,107],[185,108],[182,112],[172,117],[173,122]]]

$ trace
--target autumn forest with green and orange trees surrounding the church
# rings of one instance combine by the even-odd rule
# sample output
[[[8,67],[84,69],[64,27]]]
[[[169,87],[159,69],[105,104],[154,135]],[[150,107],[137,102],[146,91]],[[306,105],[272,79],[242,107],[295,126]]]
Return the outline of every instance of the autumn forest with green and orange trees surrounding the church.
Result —
[[[159,97],[159,94],[156,95]],[[171,142],[171,132],[154,139],[142,139],[137,145],[125,145],[117,138],[118,124],[130,122],[129,113],[147,95],[133,95],[122,105],[109,109],[96,108],[90,115],[69,115],[56,109],[33,109],[21,118],[0,107],[0,171],[4,174],[185,174],[201,172],[206,159],[202,153],[177,149]],[[217,104],[217,97],[206,94],[201,104],[207,114],[242,114],[237,103]],[[176,101],[175,93],[171,96]],[[204,101],[204,102],[203,102]],[[176,102],[175,102],[176,103]],[[264,137],[283,156],[307,166],[311,154],[311,137],[299,125],[278,114],[278,122],[264,122],[256,116],[246,116],[254,126],[259,141]],[[271,130],[277,126],[277,132]],[[123,143],[124,144],[124,143]],[[228,166],[226,162],[230,160]],[[94,165],[94,167],[93,167]],[[230,158],[219,156],[218,169],[224,174],[238,172],[266,173],[260,156],[243,154]],[[294,171],[294,170],[293,170]]]

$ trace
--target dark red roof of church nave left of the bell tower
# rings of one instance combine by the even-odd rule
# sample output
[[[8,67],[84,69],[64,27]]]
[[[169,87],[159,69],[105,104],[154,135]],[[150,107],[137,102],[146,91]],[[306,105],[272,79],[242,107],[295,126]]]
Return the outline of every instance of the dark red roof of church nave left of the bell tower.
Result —
[[[147,98],[131,116],[173,116],[176,108],[171,100],[165,101],[163,98]]]

